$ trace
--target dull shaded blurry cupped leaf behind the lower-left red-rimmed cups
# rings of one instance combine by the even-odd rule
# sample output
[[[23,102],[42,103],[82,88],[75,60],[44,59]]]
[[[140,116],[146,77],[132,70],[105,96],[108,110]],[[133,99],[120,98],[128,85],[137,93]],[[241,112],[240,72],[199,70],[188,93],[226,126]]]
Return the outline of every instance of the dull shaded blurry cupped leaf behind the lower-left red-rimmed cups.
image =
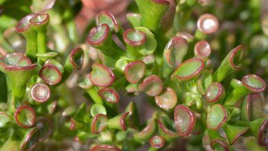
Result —
[[[47,117],[38,117],[35,126],[39,129],[39,141],[45,141],[54,131],[52,120]]]

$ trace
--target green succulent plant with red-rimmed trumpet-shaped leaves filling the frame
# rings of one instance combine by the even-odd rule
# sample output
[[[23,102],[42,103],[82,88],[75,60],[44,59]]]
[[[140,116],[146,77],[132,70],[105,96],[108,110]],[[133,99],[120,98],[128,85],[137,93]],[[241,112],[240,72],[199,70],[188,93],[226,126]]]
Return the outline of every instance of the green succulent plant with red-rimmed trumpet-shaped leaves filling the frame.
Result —
[[[215,67],[210,36],[221,23],[214,14],[200,15],[194,33],[177,31],[179,10],[202,3],[135,0],[139,11],[126,14],[129,28],[112,12],[98,13],[96,27],[82,42],[94,48],[90,51],[98,59],[79,78],[71,73],[86,66],[87,51],[73,47],[65,55],[47,45],[53,13],[23,17],[15,29],[26,40],[24,53],[0,54],[0,86],[7,95],[0,104],[0,150],[34,150],[63,137],[81,145],[90,140],[92,151],[146,145],[165,150],[178,139],[190,146],[233,150],[243,137],[267,146],[265,80],[235,74],[244,68],[246,47],[228,50]],[[64,105],[68,78],[77,81],[90,103]],[[144,96],[153,115],[140,122],[135,99],[119,109],[126,101],[123,95]]]

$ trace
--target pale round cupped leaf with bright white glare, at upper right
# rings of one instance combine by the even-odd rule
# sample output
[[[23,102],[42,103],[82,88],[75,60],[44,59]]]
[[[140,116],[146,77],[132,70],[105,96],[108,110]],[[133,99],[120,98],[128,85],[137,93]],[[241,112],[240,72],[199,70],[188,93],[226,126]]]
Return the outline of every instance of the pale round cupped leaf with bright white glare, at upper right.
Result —
[[[219,28],[219,21],[212,14],[202,14],[197,21],[197,28],[204,34],[212,34]]]

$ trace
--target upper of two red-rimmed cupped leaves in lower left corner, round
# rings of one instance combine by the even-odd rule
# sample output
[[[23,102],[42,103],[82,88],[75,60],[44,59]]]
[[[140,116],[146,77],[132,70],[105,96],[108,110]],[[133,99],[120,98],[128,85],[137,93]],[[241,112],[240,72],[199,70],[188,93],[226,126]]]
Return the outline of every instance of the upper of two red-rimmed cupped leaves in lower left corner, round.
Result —
[[[16,108],[14,119],[16,124],[22,128],[31,128],[34,126],[36,119],[34,108],[31,106],[20,106],[19,108]]]

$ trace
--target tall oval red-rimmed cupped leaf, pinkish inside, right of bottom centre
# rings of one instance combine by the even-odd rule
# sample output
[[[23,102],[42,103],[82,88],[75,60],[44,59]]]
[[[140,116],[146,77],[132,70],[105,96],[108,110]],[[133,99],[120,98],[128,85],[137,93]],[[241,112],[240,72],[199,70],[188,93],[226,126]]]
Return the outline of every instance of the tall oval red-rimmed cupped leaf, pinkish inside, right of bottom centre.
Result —
[[[194,130],[196,117],[194,112],[185,105],[177,105],[174,109],[174,121],[179,136],[190,136]]]

